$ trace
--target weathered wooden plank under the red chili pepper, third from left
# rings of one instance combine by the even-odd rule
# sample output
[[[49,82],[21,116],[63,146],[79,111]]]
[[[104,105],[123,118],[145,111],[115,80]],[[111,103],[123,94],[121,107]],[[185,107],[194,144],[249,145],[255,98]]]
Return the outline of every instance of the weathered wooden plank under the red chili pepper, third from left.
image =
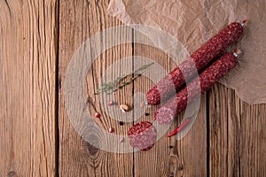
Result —
[[[139,36],[135,35],[135,38]],[[140,40],[143,41],[143,40]],[[146,40],[148,41],[148,40]],[[148,43],[148,42],[147,42]],[[161,65],[167,72],[176,67],[174,61],[163,51],[149,47],[145,44],[134,45],[134,55],[152,59],[155,65]],[[134,60],[135,68],[140,64]],[[145,62],[146,64],[149,62]],[[156,68],[156,67],[155,67]],[[159,70],[148,69],[147,75],[162,77]],[[153,81],[141,77],[134,82],[134,92],[145,94],[153,87]],[[134,100],[139,106],[140,101]],[[136,104],[135,103],[135,104]],[[135,122],[149,120],[153,122],[153,114],[158,106],[151,106],[146,109],[150,116],[138,117],[135,115]],[[173,131],[184,118],[184,113],[178,116],[177,121],[169,128],[153,148],[148,151],[137,151],[134,153],[134,165],[136,176],[206,176],[207,175],[207,123],[206,123],[206,96],[202,96],[200,112],[190,132],[181,140],[176,137],[166,137]]]

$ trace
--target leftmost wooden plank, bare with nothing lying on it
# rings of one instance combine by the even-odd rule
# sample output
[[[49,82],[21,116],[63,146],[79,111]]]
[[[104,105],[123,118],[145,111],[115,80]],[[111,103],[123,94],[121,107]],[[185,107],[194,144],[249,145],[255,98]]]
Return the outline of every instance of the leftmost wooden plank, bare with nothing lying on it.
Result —
[[[0,7],[0,176],[54,176],[58,2]]]

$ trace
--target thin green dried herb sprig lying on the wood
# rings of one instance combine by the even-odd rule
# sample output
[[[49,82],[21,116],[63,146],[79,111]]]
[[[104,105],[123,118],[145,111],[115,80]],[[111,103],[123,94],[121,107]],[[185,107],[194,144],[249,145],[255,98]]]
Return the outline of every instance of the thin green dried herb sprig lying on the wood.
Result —
[[[103,83],[101,87],[99,87],[99,89],[94,93],[94,95],[98,95],[101,92],[106,92],[107,94],[111,94],[118,89],[122,89],[123,87],[129,85],[132,81],[135,81],[138,77],[142,76],[142,74],[145,72],[145,69],[153,64],[154,63],[142,65],[141,67],[137,68],[137,70],[133,72],[117,77],[114,81]],[[128,81],[125,81],[131,75],[134,75],[134,76],[131,77]]]

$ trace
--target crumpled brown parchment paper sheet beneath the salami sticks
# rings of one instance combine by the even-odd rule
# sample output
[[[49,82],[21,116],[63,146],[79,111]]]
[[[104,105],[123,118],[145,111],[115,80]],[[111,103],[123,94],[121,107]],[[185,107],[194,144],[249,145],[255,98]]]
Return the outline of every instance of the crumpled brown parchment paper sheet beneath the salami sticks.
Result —
[[[244,36],[229,49],[243,51],[239,66],[220,82],[235,89],[248,104],[266,103],[264,0],[111,0],[108,13],[127,25],[160,27],[182,42],[189,53],[231,22],[247,19]]]

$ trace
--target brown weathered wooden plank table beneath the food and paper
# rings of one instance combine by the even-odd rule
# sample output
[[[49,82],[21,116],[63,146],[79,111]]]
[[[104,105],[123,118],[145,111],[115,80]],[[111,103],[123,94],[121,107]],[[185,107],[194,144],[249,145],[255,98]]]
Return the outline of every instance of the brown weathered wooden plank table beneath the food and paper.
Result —
[[[107,15],[107,5],[106,0],[0,1],[1,176],[265,176],[266,106],[248,105],[221,84],[201,97],[195,124],[180,141],[162,137],[152,150],[120,154],[82,140],[66,114],[66,68],[82,42],[121,25]],[[101,106],[93,92],[101,74],[132,54],[153,58],[167,71],[175,66],[165,53],[145,45],[128,43],[106,50],[84,83],[97,110]],[[152,85],[140,78],[116,98],[133,105],[133,93]],[[94,113],[90,105],[88,109]],[[152,120],[154,110],[141,119]],[[133,122],[121,127],[103,112],[98,124],[126,134]]]

